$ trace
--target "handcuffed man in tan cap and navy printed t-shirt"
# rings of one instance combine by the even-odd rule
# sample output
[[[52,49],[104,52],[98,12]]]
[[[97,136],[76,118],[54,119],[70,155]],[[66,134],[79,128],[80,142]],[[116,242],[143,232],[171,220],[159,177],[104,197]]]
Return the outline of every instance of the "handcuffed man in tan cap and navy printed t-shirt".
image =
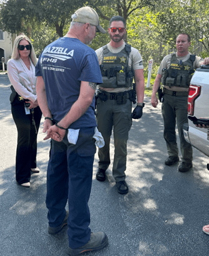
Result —
[[[87,45],[97,31],[105,30],[92,8],[80,8],[72,18],[67,35],[48,45],[39,57],[36,90],[45,117],[44,139],[52,139],[47,170],[48,232],[58,233],[68,224],[69,253],[77,255],[108,244],[104,232],[91,233],[88,208],[96,152],[94,92],[102,78],[96,53]]]

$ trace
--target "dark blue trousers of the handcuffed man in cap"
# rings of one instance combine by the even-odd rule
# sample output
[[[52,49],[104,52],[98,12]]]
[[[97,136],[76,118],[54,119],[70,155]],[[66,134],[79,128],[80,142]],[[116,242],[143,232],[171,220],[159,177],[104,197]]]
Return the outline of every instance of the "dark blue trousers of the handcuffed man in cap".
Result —
[[[49,226],[61,225],[68,201],[68,238],[71,248],[83,246],[91,235],[88,200],[96,152],[93,135],[94,127],[81,128],[76,145],[69,144],[67,132],[62,142],[51,141],[46,195]]]

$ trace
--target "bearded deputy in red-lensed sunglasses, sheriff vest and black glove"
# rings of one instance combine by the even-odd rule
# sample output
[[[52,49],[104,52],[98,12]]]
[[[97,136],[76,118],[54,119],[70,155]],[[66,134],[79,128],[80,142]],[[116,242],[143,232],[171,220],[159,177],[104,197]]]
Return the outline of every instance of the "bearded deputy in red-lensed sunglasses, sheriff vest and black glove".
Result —
[[[128,193],[125,181],[128,132],[132,118],[140,119],[143,114],[145,79],[143,61],[138,50],[125,44],[126,22],[121,16],[110,19],[108,29],[111,41],[98,50],[99,65],[103,83],[98,88],[96,100],[96,120],[105,146],[98,151],[99,168],[96,173],[98,181],[105,181],[105,171],[110,165],[110,136],[113,129],[115,155],[113,161],[113,177],[118,193]],[[136,83],[137,106],[132,110],[135,101],[133,78]]]

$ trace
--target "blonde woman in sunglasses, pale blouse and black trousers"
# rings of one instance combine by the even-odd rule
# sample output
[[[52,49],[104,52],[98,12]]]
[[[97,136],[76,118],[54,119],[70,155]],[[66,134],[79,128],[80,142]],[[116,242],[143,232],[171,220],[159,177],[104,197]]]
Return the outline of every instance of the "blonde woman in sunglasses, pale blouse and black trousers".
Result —
[[[16,181],[30,186],[31,171],[39,173],[36,166],[37,135],[41,110],[36,97],[36,54],[31,41],[19,35],[14,41],[13,55],[8,61],[8,76],[16,91],[11,102],[11,112],[18,129],[16,151]]]

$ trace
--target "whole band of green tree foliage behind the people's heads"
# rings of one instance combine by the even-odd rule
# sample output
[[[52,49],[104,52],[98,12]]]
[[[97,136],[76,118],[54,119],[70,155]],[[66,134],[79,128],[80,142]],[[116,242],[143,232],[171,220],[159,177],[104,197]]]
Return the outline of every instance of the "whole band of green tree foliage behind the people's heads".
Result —
[[[191,53],[209,54],[208,0],[8,0],[1,4],[1,28],[29,35],[39,55],[44,46],[65,35],[71,15],[82,6],[96,9],[106,31],[112,16],[123,16],[126,41],[140,51],[145,67],[150,58],[159,64],[175,50],[180,33],[191,35]],[[108,33],[98,33],[91,47],[96,50],[109,41]]]

